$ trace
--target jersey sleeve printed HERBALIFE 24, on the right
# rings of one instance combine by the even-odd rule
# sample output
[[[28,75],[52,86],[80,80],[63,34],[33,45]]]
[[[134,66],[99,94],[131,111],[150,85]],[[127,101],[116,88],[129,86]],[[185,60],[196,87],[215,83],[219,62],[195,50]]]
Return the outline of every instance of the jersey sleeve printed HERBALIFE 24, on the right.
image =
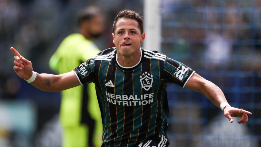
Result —
[[[178,84],[185,87],[194,72],[183,63],[167,58],[164,63],[161,80],[166,84]]]

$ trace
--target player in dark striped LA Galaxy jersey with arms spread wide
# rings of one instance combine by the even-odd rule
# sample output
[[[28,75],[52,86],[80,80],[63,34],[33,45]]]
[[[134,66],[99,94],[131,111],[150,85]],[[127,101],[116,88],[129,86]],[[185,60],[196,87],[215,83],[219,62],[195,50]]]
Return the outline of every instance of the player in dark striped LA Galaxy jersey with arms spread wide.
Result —
[[[168,146],[166,136],[168,100],[166,84],[203,93],[238,123],[247,123],[250,112],[231,107],[223,92],[188,66],[157,51],[141,49],[143,20],[138,13],[123,10],[113,24],[115,48],[103,50],[72,72],[36,73],[32,63],[13,47],[14,70],[38,89],[61,91],[94,82],[103,118],[102,146]]]

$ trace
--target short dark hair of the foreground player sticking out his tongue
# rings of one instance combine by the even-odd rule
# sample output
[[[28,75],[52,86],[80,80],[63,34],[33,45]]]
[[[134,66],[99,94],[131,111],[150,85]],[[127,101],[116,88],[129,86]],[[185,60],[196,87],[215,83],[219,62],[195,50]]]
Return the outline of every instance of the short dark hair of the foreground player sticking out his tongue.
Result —
[[[141,18],[141,16],[132,10],[122,10],[119,12],[119,14],[115,17],[114,22],[113,22],[113,33],[115,31],[115,27],[116,27],[116,23],[118,22],[119,19],[121,18],[130,18],[130,19],[134,19],[138,22],[138,27],[140,29],[140,33],[143,33],[143,19]]]

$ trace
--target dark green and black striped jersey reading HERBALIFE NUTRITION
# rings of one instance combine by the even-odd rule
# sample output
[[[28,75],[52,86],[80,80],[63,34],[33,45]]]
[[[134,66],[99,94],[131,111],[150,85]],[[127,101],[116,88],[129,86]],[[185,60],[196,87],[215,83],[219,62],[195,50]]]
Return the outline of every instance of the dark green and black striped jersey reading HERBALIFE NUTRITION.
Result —
[[[117,62],[117,50],[103,50],[73,72],[82,85],[95,83],[103,118],[103,146],[133,146],[166,133],[166,84],[185,86],[194,71],[157,51],[141,49],[133,67]]]

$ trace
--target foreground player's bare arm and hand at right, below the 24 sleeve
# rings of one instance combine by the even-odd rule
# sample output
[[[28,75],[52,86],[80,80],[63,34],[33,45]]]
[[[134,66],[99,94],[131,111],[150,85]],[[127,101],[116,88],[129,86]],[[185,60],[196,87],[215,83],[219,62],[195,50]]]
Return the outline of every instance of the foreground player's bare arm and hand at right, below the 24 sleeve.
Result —
[[[192,75],[185,87],[203,93],[206,97],[208,97],[210,101],[212,101],[218,107],[220,107],[220,104],[223,102],[227,103],[226,97],[224,96],[222,90],[214,83],[204,79],[197,73],[194,73]],[[238,123],[245,124],[248,120],[247,115],[252,114],[251,112],[248,112],[246,110],[234,108],[231,106],[225,106],[223,110],[225,117],[227,117],[231,123],[233,122],[232,117],[241,117]]]

